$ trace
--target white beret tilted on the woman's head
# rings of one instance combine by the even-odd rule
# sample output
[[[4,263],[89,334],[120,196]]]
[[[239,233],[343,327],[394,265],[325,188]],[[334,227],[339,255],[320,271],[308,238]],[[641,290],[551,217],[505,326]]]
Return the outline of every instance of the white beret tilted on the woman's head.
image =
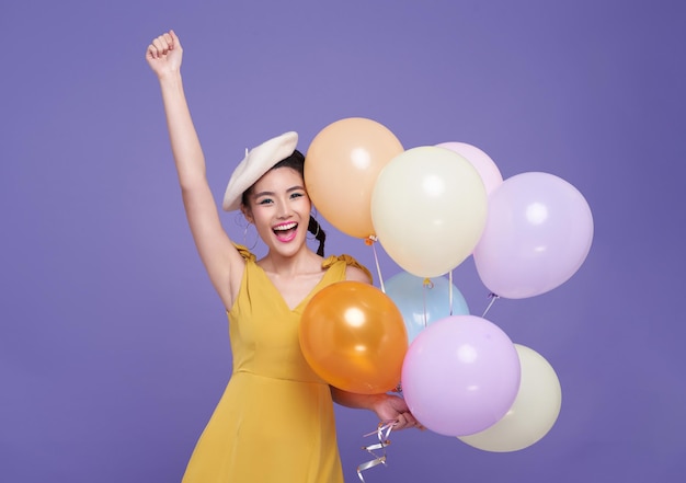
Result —
[[[221,207],[226,211],[240,209],[243,193],[276,163],[293,154],[297,143],[298,134],[288,131],[264,141],[256,148],[245,150],[245,158],[231,174]]]

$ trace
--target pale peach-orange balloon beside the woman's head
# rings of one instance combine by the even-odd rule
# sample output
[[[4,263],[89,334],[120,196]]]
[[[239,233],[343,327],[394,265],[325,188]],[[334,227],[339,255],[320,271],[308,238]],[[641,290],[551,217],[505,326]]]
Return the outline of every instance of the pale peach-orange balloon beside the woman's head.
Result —
[[[403,152],[386,126],[348,117],[324,127],[312,140],[305,162],[305,184],[317,210],[351,237],[375,234],[371,191],[386,164]]]

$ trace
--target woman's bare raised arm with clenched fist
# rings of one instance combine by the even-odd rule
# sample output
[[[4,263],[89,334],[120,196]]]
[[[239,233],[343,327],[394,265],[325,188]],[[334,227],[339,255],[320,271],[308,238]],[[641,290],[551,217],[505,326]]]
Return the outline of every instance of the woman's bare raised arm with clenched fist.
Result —
[[[244,262],[224,230],[205,173],[205,157],[193,126],[181,79],[183,48],[169,31],[155,38],[146,60],[162,91],[167,126],[179,174],[183,204],[195,245],[225,307],[231,308]]]

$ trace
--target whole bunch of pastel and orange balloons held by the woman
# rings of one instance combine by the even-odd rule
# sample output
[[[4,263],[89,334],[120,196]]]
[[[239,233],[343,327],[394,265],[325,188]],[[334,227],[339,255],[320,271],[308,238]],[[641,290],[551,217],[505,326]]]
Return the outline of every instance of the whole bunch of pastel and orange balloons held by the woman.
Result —
[[[465,142],[405,150],[387,127],[362,117],[315,137],[305,182],[332,226],[378,241],[401,268],[382,290],[340,283],[312,298],[300,326],[310,366],[353,392],[401,382],[425,427],[479,449],[515,451],[545,436],[561,406],[554,370],[471,315],[444,275],[473,256],[493,296],[554,289],[591,249],[583,195],[549,173],[503,180],[485,152]]]

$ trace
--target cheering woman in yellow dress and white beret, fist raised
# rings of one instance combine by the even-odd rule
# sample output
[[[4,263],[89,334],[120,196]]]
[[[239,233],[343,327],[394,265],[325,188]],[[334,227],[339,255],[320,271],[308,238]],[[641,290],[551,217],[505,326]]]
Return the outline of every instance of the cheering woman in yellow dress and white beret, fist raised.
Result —
[[[233,355],[233,373],[184,482],[342,482],[333,401],[396,421],[395,429],[418,426],[401,398],[331,388],[300,353],[298,324],[311,297],[340,280],[370,283],[370,274],[350,256],[322,257],[323,237],[310,217],[295,133],[248,152],[225,194],[224,208],[242,210],[267,254],[255,260],[229,239],[186,104],[182,55],[173,31],[155,38],[146,51],[160,82],[188,225],[226,307]],[[320,254],[307,246],[308,227],[319,235]]]

